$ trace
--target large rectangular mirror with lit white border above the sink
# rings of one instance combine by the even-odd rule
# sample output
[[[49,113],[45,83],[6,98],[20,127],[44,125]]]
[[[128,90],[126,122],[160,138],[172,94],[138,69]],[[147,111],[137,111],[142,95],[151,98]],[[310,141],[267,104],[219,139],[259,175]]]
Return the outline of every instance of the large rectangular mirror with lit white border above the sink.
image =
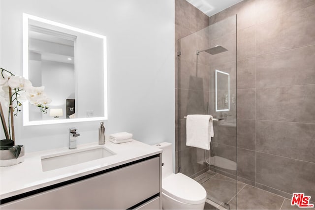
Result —
[[[106,65],[106,36],[23,14],[23,76],[52,99],[24,103],[24,125],[107,120]]]

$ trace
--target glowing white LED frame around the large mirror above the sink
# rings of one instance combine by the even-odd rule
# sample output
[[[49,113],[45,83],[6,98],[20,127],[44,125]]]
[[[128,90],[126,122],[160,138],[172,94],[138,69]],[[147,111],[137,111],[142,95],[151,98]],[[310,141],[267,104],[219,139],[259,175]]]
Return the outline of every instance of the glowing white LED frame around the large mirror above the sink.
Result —
[[[87,30],[78,29],[54,21],[50,21],[44,18],[36,17],[23,13],[23,77],[29,79],[29,20],[35,20],[38,22],[50,24],[56,27],[60,27],[67,30],[73,30],[83,34],[95,36],[103,39],[103,70],[104,70],[104,117],[94,117],[94,118],[77,118],[77,119],[60,119],[60,120],[29,120],[29,102],[23,104],[23,125],[42,125],[42,124],[57,124],[57,123],[68,123],[68,122],[82,122],[82,121],[95,121],[95,120],[107,120],[107,46],[106,46],[106,36],[93,33]]]

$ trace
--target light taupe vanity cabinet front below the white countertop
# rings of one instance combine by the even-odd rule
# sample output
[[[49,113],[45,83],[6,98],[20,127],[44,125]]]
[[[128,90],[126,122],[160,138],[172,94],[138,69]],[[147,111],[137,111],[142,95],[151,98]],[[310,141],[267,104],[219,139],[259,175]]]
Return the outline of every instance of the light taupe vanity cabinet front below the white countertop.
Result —
[[[1,209],[161,209],[160,191],[158,154],[4,203]]]

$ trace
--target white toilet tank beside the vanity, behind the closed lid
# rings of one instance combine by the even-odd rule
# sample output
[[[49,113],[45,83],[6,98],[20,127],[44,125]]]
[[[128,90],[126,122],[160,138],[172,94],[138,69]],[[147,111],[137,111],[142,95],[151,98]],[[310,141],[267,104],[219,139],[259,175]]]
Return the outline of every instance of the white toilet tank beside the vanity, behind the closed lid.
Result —
[[[155,145],[162,152],[162,179],[173,174],[173,154],[172,154],[172,144],[169,142],[162,142]]]

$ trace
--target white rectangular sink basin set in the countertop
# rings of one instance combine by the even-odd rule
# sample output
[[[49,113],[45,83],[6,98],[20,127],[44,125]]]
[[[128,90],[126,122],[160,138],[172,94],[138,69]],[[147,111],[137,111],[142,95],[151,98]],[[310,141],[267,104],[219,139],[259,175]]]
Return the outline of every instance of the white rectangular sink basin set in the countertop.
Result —
[[[103,146],[97,146],[81,150],[74,149],[66,152],[61,152],[58,154],[42,156],[41,166],[43,171],[50,171],[54,169],[63,168],[66,166],[71,166],[104,157],[109,157],[114,154],[116,153],[104,148]]]

